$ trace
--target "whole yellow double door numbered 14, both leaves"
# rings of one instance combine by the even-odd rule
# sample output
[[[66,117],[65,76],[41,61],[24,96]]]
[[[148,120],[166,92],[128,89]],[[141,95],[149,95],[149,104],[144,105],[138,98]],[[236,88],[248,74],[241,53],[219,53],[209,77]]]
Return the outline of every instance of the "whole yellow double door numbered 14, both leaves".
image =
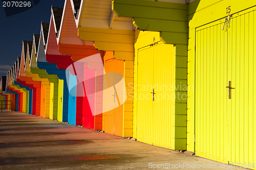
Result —
[[[174,45],[155,42],[138,50],[137,140],[171,148]],[[154,92],[154,98],[153,98]],[[175,96],[173,101],[175,101]],[[174,124],[173,124],[174,127]]]

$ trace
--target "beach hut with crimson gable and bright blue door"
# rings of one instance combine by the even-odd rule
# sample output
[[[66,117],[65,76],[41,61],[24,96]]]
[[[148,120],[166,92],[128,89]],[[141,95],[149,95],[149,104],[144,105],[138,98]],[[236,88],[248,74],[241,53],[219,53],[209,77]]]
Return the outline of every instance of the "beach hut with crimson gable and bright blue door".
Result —
[[[69,93],[68,86],[75,86],[76,76],[66,72],[69,65],[73,63],[71,56],[62,55],[58,52],[56,33],[59,31],[63,9],[52,8],[50,28],[46,30],[49,34],[49,50],[46,54],[46,60],[49,63],[55,63],[59,69],[58,77],[63,80],[63,121],[72,125],[76,124],[76,96]],[[56,30],[56,31],[55,31]],[[68,70],[67,70],[68,71]],[[76,90],[74,88],[74,90]]]

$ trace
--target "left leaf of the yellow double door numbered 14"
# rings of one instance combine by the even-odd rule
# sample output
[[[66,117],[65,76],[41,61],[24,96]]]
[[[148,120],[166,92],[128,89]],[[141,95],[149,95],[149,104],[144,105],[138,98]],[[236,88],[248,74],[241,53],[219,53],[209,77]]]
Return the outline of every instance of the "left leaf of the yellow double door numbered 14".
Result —
[[[138,50],[137,140],[153,144],[153,46]]]

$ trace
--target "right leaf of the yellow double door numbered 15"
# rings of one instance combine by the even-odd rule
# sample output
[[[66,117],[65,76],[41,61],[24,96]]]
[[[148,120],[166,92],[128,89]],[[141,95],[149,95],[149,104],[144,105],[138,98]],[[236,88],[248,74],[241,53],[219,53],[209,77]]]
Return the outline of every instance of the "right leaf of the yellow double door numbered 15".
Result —
[[[230,163],[256,163],[256,8],[233,15],[228,32]],[[229,90],[228,90],[229,91]]]

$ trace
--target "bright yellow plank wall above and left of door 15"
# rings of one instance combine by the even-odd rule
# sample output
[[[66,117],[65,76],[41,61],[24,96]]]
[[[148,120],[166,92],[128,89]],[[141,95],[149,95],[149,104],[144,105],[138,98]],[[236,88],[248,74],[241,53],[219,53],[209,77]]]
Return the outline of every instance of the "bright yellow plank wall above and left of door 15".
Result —
[[[227,13],[226,8],[231,6],[231,12]],[[220,23],[220,20],[227,17],[229,14],[240,13],[245,9],[255,6],[254,1],[241,3],[238,0],[234,1],[196,1],[189,4],[188,21],[189,21],[189,36],[188,36],[188,100],[187,100],[187,150],[195,152],[195,98],[196,98],[196,28],[205,26],[208,27],[214,24],[215,21]],[[225,7],[225,8],[224,8]],[[222,10],[220,10],[222,9]],[[229,17],[229,16],[228,16]],[[250,19],[253,17],[250,17]],[[224,21],[223,21],[224,22]],[[216,23],[215,23],[216,24]],[[213,26],[213,25],[212,25]],[[217,26],[216,26],[217,27]],[[223,29],[223,25],[222,28]],[[210,30],[209,32],[213,32]],[[237,33],[239,36],[240,33]],[[233,35],[232,35],[233,36]],[[242,34],[241,34],[242,36]],[[198,41],[199,42],[199,41]],[[198,54],[199,55],[199,54]],[[200,56],[198,56],[200,57]]]

